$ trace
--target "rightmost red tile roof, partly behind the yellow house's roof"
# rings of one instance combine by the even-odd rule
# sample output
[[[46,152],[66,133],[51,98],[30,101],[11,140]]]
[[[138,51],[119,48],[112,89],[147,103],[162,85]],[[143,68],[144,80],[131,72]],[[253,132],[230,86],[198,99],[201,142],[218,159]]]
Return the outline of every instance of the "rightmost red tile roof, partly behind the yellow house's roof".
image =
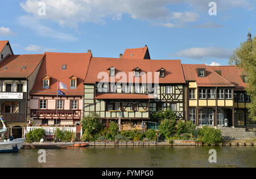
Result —
[[[243,70],[235,65],[209,66],[212,70],[221,70],[221,76],[236,86],[235,90],[245,91],[246,83],[243,83],[240,75]]]

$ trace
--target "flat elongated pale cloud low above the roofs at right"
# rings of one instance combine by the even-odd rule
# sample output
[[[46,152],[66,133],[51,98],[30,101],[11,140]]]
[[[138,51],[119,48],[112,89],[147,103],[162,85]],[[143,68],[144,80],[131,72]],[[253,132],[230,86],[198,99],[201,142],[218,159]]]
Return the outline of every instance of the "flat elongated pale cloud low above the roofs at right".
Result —
[[[221,47],[207,47],[207,48],[190,48],[180,50],[175,54],[177,56],[193,58],[193,59],[204,59],[207,57],[213,58],[229,58],[233,53],[233,49],[226,49]]]

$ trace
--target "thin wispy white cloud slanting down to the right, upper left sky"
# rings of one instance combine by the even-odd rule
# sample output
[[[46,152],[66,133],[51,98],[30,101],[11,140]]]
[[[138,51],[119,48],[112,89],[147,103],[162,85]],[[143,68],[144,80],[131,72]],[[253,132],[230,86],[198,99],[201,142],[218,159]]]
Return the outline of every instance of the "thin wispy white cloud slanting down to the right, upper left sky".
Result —
[[[55,29],[49,28],[39,22],[38,19],[32,18],[31,16],[20,16],[19,23],[24,25],[27,28],[30,28],[36,31],[40,36],[51,37],[54,39],[76,41],[77,38],[69,35],[68,33],[59,32]]]

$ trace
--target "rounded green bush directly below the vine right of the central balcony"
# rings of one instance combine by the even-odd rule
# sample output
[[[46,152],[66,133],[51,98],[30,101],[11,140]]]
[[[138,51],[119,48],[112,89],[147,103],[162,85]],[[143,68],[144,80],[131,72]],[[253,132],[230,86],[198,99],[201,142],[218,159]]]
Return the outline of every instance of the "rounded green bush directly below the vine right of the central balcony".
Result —
[[[176,120],[162,120],[159,126],[159,133],[164,138],[170,138],[176,133]]]

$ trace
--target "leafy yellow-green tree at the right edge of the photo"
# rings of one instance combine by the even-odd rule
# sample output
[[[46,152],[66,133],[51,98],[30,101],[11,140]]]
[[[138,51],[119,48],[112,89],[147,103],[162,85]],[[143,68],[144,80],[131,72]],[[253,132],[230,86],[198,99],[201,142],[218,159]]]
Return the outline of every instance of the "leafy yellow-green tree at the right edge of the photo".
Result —
[[[251,97],[249,115],[251,120],[256,121],[256,37],[253,41],[241,43],[240,47],[234,50],[229,63],[241,67],[246,75],[246,91]]]

